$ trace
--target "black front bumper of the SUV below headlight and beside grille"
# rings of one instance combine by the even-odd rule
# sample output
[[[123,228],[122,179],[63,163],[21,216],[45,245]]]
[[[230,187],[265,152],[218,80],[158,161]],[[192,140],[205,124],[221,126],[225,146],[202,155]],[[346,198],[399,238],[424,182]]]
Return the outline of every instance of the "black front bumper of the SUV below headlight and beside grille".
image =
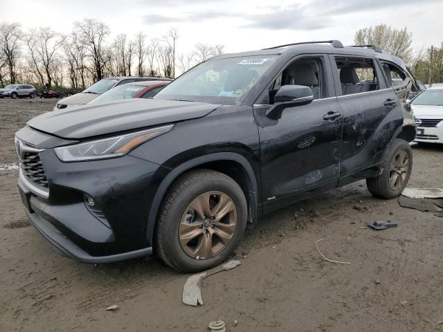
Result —
[[[147,216],[168,169],[132,156],[62,163],[53,149],[40,155],[48,196],[35,192],[22,176],[19,192],[28,219],[57,252],[93,264],[152,254]],[[93,197],[100,215],[87,206],[85,195]]]

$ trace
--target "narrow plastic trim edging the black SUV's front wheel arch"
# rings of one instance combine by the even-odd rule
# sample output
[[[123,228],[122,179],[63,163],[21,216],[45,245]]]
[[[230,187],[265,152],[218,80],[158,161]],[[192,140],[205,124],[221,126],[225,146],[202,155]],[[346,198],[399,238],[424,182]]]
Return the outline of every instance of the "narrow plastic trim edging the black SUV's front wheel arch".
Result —
[[[168,192],[168,189],[170,185],[179,177],[181,174],[186,172],[188,169],[192,169],[196,166],[203,165],[205,163],[210,163],[212,161],[217,160],[233,160],[240,165],[244,167],[246,170],[246,173],[248,174],[249,182],[252,185],[252,188],[248,188],[248,201],[249,208],[248,213],[249,215],[249,221],[252,221],[254,224],[257,221],[257,210],[258,210],[258,186],[257,186],[257,179],[255,178],[255,174],[253,171],[253,168],[251,167],[251,164],[248,162],[244,156],[240,154],[235,154],[233,152],[219,152],[215,154],[208,154],[206,156],[200,156],[191,160],[186,161],[186,163],[183,163],[179,165],[178,167],[175,167],[172,169],[172,171],[163,179],[161,182],[159,189],[157,190],[154,200],[152,201],[150,213],[148,216],[147,221],[147,230],[146,230],[146,236],[147,240],[152,243],[152,239],[154,237],[154,226],[156,223],[157,214],[159,213],[159,209],[161,206],[161,202],[163,201],[163,198],[165,197],[166,192]],[[153,244],[153,243],[152,243]]]

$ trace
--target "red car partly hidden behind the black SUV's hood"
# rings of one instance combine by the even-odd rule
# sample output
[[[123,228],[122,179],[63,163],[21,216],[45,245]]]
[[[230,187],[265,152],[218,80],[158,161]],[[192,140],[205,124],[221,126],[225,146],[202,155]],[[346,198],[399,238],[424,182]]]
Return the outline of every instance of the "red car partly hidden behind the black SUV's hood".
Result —
[[[130,98],[151,98],[159,92],[163,86],[168,85],[169,82],[170,81],[142,81],[118,85],[111,90],[102,93],[87,104],[98,104],[102,102],[110,102],[111,100]]]

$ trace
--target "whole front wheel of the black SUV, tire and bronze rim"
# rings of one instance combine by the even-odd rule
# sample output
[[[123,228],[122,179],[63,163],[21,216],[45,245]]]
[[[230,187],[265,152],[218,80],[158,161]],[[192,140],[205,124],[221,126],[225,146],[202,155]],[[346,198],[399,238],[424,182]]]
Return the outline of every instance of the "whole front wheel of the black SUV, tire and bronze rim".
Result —
[[[210,169],[192,171],[176,181],[163,201],[154,248],[175,270],[207,270],[233,253],[242,241],[246,220],[246,199],[232,178]]]

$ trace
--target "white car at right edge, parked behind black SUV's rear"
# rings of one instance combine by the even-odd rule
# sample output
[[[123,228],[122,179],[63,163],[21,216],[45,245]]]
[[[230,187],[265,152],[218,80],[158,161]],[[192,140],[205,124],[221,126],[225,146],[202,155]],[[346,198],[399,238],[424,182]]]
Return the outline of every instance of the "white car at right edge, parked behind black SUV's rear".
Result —
[[[415,142],[443,144],[443,86],[426,89],[411,102],[417,136]]]

